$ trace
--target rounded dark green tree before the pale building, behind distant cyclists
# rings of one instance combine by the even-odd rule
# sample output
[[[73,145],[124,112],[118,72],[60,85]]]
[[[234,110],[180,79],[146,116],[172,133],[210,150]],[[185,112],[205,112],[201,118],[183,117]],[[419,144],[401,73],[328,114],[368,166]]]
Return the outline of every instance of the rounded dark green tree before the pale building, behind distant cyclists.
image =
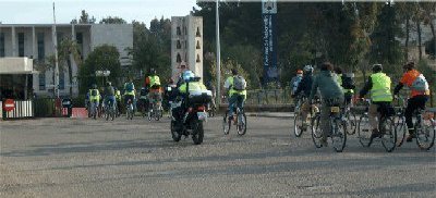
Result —
[[[108,81],[112,85],[120,86],[119,77],[121,74],[120,53],[113,46],[96,47],[86,58],[85,62],[78,70],[80,90],[85,94],[92,84],[104,86],[104,77],[96,76],[96,71],[110,71]]]

